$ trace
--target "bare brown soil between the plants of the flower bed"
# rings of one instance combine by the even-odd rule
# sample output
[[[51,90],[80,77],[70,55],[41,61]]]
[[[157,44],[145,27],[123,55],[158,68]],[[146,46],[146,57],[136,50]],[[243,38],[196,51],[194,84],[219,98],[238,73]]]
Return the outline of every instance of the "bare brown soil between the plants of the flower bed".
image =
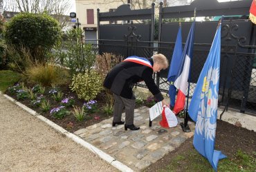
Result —
[[[32,88],[33,86],[34,85],[26,85],[26,87],[28,87],[28,88]],[[61,102],[56,102],[52,98],[52,94],[49,94],[51,89],[52,89],[51,87],[46,87],[45,93],[43,94],[44,98],[46,100],[49,100],[49,103],[51,105],[50,109],[62,106]],[[86,103],[84,100],[82,100],[80,98],[77,98],[77,94],[72,92],[71,89],[68,87],[68,85],[61,85],[60,87],[57,87],[57,89],[60,90],[64,94],[62,100],[64,98],[73,97],[74,105],[77,106],[77,107],[82,107],[84,105],[84,103]],[[8,94],[8,96],[11,96],[15,100],[18,100],[16,94],[11,94],[8,90],[6,91],[6,94]],[[97,102],[97,107],[96,107],[97,109],[95,109],[95,111],[92,112],[92,113],[87,112],[86,115],[85,115],[85,119],[83,121],[77,121],[77,119],[75,118],[75,116],[73,116],[72,113],[64,116],[64,118],[62,118],[62,119],[54,118],[50,113],[51,110],[48,110],[48,111],[44,112],[44,111],[42,111],[41,107],[33,106],[31,104],[31,99],[30,98],[25,98],[24,100],[18,100],[18,101],[20,103],[26,105],[27,107],[30,107],[31,109],[37,111],[37,113],[44,116],[45,118],[48,118],[49,120],[52,120],[57,125],[60,125],[61,127],[66,129],[67,131],[74,132],[74,131],[77,131],[78,129],[89,127],[91,125],[94,125],[94,124],[102,121],[102,120],[105,120],[105,119],[108,119],[108,118],[112,117],[112,114],[107,115],[102,110],[102,107],[104,107],[104,105],[106,105],[106,103],[109,103],[109,100],[107,100],[106,97],[107,96],[106,96],[106,93],[104,91],[102,91],[102,92],[100,92],[100,94],[98,94],[98,96],[94,99]],[[140,105],[136,104],[136,108],[138,108],[140,106],[143,106],[143,101],[140,102]],[[68,111],[72,111],[73,107],[68,107],[66,109]]]

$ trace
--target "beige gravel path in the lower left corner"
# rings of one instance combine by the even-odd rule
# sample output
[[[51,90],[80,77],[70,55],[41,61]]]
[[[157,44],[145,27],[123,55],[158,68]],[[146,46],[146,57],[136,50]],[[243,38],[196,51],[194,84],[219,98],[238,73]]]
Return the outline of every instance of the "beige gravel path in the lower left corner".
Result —
[[[0,94],[0,171],[117,171]]]

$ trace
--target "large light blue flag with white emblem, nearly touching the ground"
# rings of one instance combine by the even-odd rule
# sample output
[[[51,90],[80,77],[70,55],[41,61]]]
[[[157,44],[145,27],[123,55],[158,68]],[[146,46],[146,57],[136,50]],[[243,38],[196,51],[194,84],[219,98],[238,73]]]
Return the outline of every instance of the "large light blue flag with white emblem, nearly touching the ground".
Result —
[[[205,61],[188,109],[192,120],[196,121],[194,147],[208,159],[214,171],[220,159],[226,158],[221,151],[214,150],[217,125],[219,94],[219,68],[221,56],[221,24],[214,36],[212,47]]]

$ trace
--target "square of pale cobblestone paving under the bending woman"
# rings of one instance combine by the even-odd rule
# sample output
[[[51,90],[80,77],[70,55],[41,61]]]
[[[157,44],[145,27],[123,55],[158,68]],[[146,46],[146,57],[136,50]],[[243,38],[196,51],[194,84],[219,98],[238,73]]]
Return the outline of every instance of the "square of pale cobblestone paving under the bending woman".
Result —
[[[102,151],[109,153],[113,158],[126,164],[134,171],[142,171],[150,164],[163,158],[165,154],[173,151],[188,137],[193,136],[193,132],[184,133],[178,125],[171,129],[165,129],[160,133],[160,118],[153,121],[152,127],[149,125],[149,108],[140,107],[134,114],[135,125],[140,126],[138,131],[125,131],[124,125],[112,127],[112,118],[75,131],[86,142],[93,144]],[[124,118],[124,114],[122,114]],[[194,131],[194,123],[189,122],[190,129]]]

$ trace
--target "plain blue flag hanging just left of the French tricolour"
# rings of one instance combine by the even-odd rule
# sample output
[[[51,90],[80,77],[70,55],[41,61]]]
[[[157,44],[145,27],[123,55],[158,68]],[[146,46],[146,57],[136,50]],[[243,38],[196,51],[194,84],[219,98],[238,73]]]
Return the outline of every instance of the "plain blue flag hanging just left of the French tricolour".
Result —
[[[169,87],[169,96],[170,96],[170,105],[174,107],[175,96],[176,96],[176,87],[174,86],[174,80],[176,75],[179,72],[179,66],[181,65],[181,56],[182,56],[182,35],[181,35],[181,25],[179,26],[178,34],[176,37],[176,42],[174,46],[174,52],[172,54],[172,61],[170,64],[170,69],[168,72],[167,80],[170,81]]]

